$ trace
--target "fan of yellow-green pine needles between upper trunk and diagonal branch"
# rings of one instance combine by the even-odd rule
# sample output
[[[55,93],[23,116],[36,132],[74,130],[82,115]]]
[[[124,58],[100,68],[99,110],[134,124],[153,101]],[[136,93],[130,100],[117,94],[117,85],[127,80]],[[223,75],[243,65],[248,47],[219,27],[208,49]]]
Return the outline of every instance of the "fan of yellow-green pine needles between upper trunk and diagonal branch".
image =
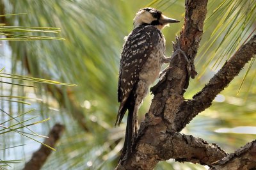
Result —
[[[213,5],[210,2],[209,6]],[[214,2],[216,3],[216,2]],[[211,63],[211,69],[218,70],[223,60],[230,58],[252,33],[255,22],[254,1],[220,1],[218,7],[205,20],[205,36],[209,41],[200,48],[203,69]],[[224,47],[223,47],[224,46]],[[207,55],[207,58],[203,56]],[[201,75],[205,72],[202,70]]]

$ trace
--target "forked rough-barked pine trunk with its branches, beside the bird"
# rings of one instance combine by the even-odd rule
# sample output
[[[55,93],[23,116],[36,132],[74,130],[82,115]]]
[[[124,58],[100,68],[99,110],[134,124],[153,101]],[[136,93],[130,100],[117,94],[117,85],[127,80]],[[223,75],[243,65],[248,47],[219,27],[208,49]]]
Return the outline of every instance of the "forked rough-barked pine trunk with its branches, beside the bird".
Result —
[[[183,94],[188,88],[189,77],[196,75],[193,63],[203,33],[206,6],[207,0],[186,1],[184,27],[174,44],[174,50],[180,46],[186,56],[182,52],[173,52],[166,75],[152,88],[154,98],[145,121],[140,125],[134,150],[119,162],[116,169],[153,169],[159,160],[169,158],[211,166],[215,160],[227,155],[220,147],[207,144],[203,139],[178,133],[199,112],[211,106],[216,95],[228,86],[256,53],[256,36],[253,36],[193,100],[185,101]]]

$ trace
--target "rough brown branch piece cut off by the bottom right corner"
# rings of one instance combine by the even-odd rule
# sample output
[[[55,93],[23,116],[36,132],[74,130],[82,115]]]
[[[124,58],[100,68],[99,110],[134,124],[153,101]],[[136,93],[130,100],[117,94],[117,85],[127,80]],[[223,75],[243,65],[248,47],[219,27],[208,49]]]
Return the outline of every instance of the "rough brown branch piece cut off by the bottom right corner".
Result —
[[[231,153],[227,157],[213,164],[215,169],[255,169],[256,167],[256,140]]]

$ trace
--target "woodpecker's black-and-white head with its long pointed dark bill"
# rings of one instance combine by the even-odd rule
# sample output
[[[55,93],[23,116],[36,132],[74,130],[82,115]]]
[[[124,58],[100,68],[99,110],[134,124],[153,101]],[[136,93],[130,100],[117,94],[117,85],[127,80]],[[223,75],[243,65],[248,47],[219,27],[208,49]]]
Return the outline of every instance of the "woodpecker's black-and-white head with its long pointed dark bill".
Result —
[[[164,26],[167,26],[170,23],[180,22],[179,20],[170,19],[164,16],[162,12],[150,7],[139,10],[133,21],[134,28],[145,24],[155,26],[159,30],[163,29]]]

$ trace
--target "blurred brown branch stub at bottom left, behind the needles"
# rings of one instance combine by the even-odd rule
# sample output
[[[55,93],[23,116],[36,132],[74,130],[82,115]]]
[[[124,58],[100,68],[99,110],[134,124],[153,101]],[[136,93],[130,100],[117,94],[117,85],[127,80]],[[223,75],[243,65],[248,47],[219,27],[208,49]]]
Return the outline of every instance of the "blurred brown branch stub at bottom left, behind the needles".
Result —
[[[56,125],[54,125],[54,127],[52,127],[52,130],[49,132],[48,135],[49,138],[45,139],[44,143],[54,148],[64,130],[65,127],[57,123]],[[41,169],[41,167],[44,166],[47,158],[50,156],[51,152],[51,149],[47,148],[44,145],[41,145],[40,149],[33,153],[31,160],[29,160],[29,162],[25,164],[24,170]]]

